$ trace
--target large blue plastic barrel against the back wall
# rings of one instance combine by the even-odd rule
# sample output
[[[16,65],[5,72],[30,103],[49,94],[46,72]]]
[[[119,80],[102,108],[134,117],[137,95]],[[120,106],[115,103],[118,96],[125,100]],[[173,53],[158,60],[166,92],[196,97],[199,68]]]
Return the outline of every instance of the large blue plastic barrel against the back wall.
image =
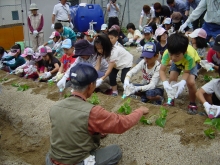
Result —
[[[78,6],[74,17],[74,27],[79,32],[86,32],[89,29],[89,22],[97,22],[93,25],[95,31],[101,29],[104,23],[104,15],[102,8],[99,4],[87,4],[85,7]]]

